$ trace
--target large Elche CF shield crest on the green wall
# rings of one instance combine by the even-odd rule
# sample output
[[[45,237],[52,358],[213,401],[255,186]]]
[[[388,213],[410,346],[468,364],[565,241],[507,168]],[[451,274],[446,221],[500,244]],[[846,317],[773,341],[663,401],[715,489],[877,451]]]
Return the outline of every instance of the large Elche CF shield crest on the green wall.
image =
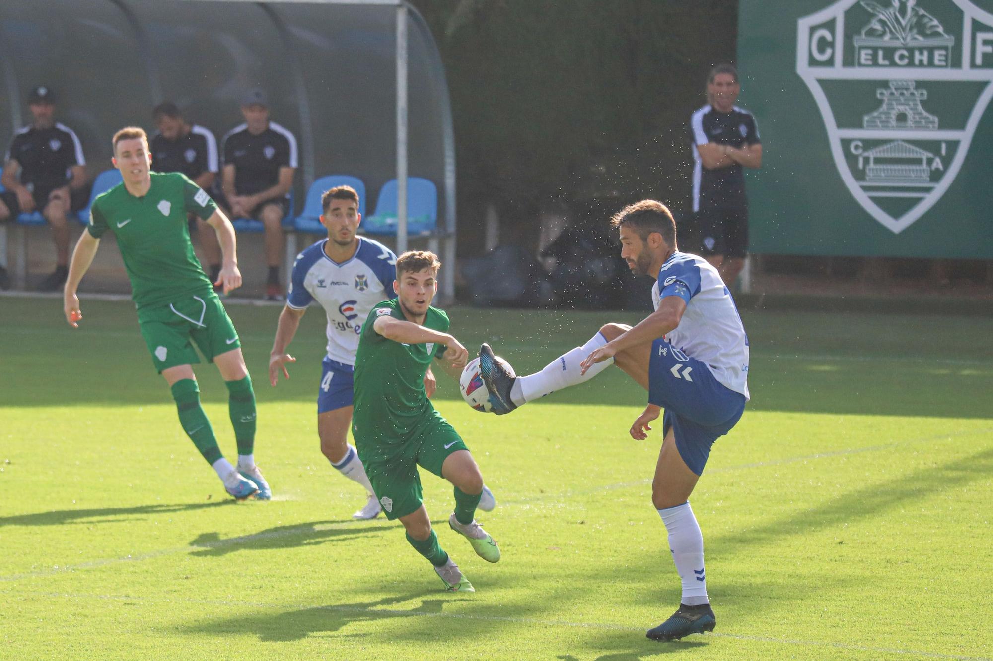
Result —
[[[839,0],[797,21],[852,196],[899,233],[944,195],[993,95],[993,15],[967,0]]]

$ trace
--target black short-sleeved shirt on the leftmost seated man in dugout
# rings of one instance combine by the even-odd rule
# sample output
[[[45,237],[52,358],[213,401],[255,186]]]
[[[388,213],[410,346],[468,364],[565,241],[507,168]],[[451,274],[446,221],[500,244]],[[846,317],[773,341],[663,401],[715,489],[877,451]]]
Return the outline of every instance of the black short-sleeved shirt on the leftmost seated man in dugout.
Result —
[[[72,166],[85,165],[82,145],[65,124],[46,129],[26,126],[10,143],[5,161],[21,166],[21,184],[52,190],[69,184]]]

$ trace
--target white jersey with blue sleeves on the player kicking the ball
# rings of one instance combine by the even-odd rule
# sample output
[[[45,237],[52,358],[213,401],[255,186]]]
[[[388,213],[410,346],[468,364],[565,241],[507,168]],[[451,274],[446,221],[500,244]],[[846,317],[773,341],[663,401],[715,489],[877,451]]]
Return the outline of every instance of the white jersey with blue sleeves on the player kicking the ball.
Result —
[[[704,362],[718,382],[750,398],[748,335],[717,269],[698,255],[673,253],[658,270],[651,288],[655,310],[666,296],[681,298],[686,311],[665,339]]]

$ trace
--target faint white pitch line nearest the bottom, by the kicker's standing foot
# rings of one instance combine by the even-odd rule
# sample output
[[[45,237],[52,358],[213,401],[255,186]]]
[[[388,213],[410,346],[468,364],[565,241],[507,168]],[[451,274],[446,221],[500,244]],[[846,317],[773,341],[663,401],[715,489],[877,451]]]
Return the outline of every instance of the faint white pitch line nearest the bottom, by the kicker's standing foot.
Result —
[[[216,605],[223,608],[232,607],[251,607],[260,610],[285,610],[287,608],[296,608],[298,610],[311,609],[311,610],[329,610],[333,612],[346,612],[355,613],[358,615],[375,617],[376,615],[385,615],[389,617],[441,617],[445,619],[473,619],[478,621],[488,621],[488,622],[513,622],[520,624],[538,625],[538,626],[558,626],[558,627],[570,627],[570,628],[582,628],[582,629],[606,629],[610,631],[631,631],[642,632],[643,627],[638,626],[624,626],[621,624],[607,624],[602,622],[570,622],[568,620],[560,619],[540,619],[537,617],[511,617],[503,615],[473,615],[470,613],[459,613],[459,612],[425,612],[421,610],[401,610],[398,608],[363,608],[360,606],[350,606],[350,605],[320,605],[315,606],[312,603],[260,603],[260,602],[248,602],[248,601],[227,601],[222,599],[194,599],[194,598],[175,598],[175,597],[159,597],[159,598],[149,598],[143,596],[130,596],[130,595],[85,595],[85,594],[74,594],[74,593],[44,593],[44,592],[29,592],[25,593],[23,591],[0,591],[2,595],[18,595],[23,597],[24,595],[35,595],[50,598],[67,598],[67,599],[106,599],[106,600],[118,600],[118,601],[129,601],[134,603],[181,603],[189,605]],[[959,654],[942,654],[940,652],[925,652],[922,650],[914,649],[899,649],[894,647],[870,647],[867,645],[853,645],[851,643],[836,642],[831,640],[796,640],[792,638],[774,638],[772,636],[750,636],[738,633],[707,633],[705,636],[714,636],[716,638],[731,638],[734,640],[748,640],[753,642],[768,642],[768,643],[778,643],[782,645],[803,645],[808,647],[833,647],[837,649],[850,649],[860,652],[873,652],[879,654],[909,654],[915,656],[922,656],[926,658],[934,659],[965,659],[967,661],[990,661],[989,657],[985,656],[963,656]]]

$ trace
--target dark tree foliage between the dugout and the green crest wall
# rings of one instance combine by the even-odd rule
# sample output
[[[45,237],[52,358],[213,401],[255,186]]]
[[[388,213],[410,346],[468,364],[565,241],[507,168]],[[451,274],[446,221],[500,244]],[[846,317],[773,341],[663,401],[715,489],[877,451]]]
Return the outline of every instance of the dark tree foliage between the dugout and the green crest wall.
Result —
[[[460,253],[533,244],[543,210],[689,203],[688,123],[711,66],[733,62],[735,0],[412,0],[446,67]],[[744,72],[743,72],[744,73]],[[743,79],[747,84],[747,79]]]

